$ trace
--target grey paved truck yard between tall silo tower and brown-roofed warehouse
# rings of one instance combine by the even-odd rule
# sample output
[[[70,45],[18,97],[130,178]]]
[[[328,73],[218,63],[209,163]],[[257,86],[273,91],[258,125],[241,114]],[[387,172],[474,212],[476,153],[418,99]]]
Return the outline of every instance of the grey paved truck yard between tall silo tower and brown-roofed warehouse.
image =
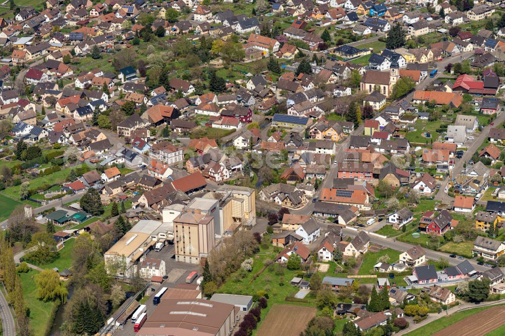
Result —
[[[189,275],[190,272],[196,270],[198,271],[198,276],[201,274],[201,267],[197,264],[188,264],[184,262],[175,261],[174,255],[174,245],[165,246],[160,252],[156,252],[155,250],[151,250],[147,253],[147,258],[161,259],[165,261],[166,270],[168,278],[165,279],[163,284],[151,284],[147,289],[147,295],[149,298],[145,301],[146,309],[147,309],[147,318],[149,318],[149,314],[153,313],[155,310],[155,306],[153,305],[152,297],[158,293],[159,289],[162,287],[175,288],[178,284],[186,283],[186,276]],[[193,282],[195,284],[196,280]],[[163,300],[163,299],[162,299]],[[118,330],[115,335],[121,336],[133,336],[136,333],[133,331],[133,323],[128,320],[123,329]]]

